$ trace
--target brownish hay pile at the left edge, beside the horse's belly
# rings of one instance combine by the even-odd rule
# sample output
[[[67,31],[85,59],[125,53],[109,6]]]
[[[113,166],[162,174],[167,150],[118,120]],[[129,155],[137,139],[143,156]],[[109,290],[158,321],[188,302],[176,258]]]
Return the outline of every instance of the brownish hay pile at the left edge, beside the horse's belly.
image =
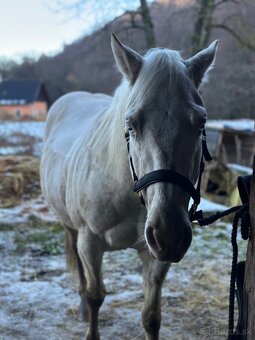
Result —
[[[0,208],[16,206],[40,193],[39,165],[32,156],[0,157]]]

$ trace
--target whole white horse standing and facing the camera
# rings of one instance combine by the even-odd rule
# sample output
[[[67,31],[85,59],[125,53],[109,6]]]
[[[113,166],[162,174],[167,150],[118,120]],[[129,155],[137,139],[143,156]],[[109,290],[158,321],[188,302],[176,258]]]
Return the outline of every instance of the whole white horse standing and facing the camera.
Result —
[[[192,193],[174,181],[152,178],[139,183],[141,205],[134,180],[163,169],[179,173],[194,188],[206,122],[198,89],[216,49],[217,41],[188,60],[162,48],[141,56],[113,35],[113,54],[124,76],[114,97],[70,93],[49,111],[41,183],[67,231],[69,260],[79,272],[80,311],[89,318],[87,339],[99,339],[103,254],[128,247],[143,264],[146,338],[158,339],[163,280],[192,239]]]

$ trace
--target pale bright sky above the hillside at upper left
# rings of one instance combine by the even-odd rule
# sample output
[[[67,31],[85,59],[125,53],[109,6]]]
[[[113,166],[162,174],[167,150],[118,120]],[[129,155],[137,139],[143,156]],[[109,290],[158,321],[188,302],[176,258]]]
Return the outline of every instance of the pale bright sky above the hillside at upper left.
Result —
[[[49,9],[56,1],[0,0],[0,58],[56,53],[63,44],[89,31],[93,12],[86,16],[86,20],[66,20],[66,13],[55,13]],[[72,3],[74,0],[67,1]],[[134,6],[134,0],[123,2]],[[117,14],[120,13],[116,9],[112,16]],[[107,19],[110,20],[110,16]]]

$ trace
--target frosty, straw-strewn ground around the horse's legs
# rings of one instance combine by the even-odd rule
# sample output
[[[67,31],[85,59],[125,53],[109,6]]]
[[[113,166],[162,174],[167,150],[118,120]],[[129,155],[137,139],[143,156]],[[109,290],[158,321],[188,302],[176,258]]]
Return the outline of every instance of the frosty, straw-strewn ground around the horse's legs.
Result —
[[[65,269],[64,233],[35,217],[0,228],[0,339],[83,339],[77,286]],[[172,266],[162,294],[160,339],[226,339],[231,226],[197,230]],[[241,258],[246,244],[240,243]],[[104,340],[144,339],[141,263],[133,250],[106,253],[108,294],[100,312]]]

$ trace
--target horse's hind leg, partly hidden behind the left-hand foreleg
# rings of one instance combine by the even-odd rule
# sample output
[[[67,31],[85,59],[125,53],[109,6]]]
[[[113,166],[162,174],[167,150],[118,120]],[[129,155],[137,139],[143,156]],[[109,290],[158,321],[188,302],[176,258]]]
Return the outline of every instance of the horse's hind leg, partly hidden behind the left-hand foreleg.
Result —
[[[77,230],[71,229],[68,226],[65,226],[66,231],[66,259],[67,266],[70,272],[73,274],[78,274],[79,278],[79,294],[80,294],[80,306],[79,306],[79,315],[81,321],[88,320],[88,306],[86,300],[86,279],[84,275],[84,270],[82,266],[81,259],[77,250],[77,238],[78,232]]]

